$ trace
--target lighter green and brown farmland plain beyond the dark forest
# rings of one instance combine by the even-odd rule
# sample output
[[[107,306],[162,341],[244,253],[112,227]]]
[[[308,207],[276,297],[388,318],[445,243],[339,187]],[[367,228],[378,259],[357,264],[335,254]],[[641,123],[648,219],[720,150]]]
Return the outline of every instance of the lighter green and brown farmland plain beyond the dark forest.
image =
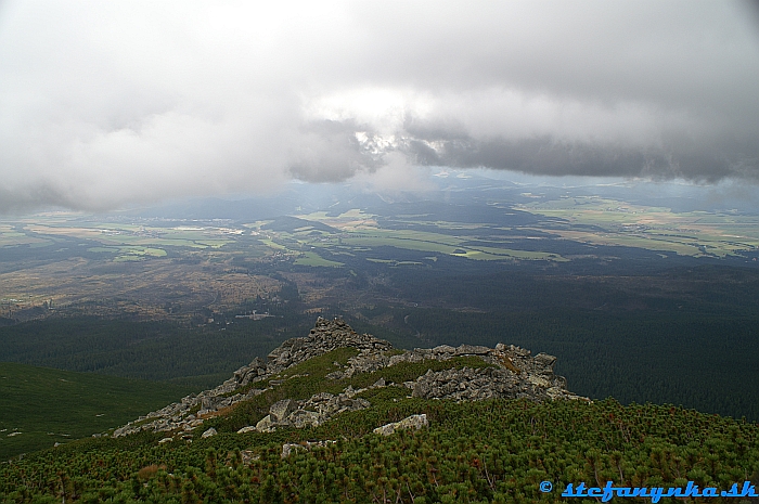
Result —
[[[0,316],[76,307],[77,314],[186,320],[275,297],[284,285],[279,271],[556,270],[630,257],[750,263],[759,256],[757,220],[595,196],[421,202],[250,221],[38,214],[0,221]],[[312,305],[339,285],[308,282],[317,285],[304,290]]]

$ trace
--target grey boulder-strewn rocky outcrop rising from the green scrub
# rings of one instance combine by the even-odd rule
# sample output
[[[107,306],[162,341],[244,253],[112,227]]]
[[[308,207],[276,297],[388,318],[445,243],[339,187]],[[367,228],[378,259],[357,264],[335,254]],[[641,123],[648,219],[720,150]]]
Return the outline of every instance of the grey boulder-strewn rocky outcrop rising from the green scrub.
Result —
[[[141,416],[116,429],[113,436],[127,436],[141,430],[191,435],[203,425],[204,418],[281,385],[284,380],[272,378],[283,371],[342,347],[356,348],[359,353],[350,358],[346,366],[327,374],[327,379],[350,378],[356,374],[371,373],[402,362],[446,361],[455,357],[476,356],[492,366],[428,371],[413,382],[386,384],[384,379],[380,379],[368,388],[401,386],[407,387],[413,397],[458,401],[488,398],[588,400],[566,390],[566,379],[553,372],[556,361],[553,356],[538,353],[532,357],[529,350],[503,344],[497,345],[496,348],[472,345],[454,348],[442,345],[432,349],[401,351],[394,349],[388,341],[356,333],[340,319],[319,318],[308,336],[284,341],[269,353],[268,361],[256,358],[248,365],[235,371],[230,379],[218,387],[188,396],[179,402]],[[266,388],[247,387],[263,380],[269,383]],[[244,427],[239,432],[271,431],[282,426],[318,426],[345,411],[370,406],[369,401],[356,397],[364,390],[366,389],[353,389],[349,386],[338,395],[321,392],[307,400],[279,401],[272,404],[269,415],[257,425]],[[211,429],[208,429],[204,436],[215,434],[215,430],[211,432]]]

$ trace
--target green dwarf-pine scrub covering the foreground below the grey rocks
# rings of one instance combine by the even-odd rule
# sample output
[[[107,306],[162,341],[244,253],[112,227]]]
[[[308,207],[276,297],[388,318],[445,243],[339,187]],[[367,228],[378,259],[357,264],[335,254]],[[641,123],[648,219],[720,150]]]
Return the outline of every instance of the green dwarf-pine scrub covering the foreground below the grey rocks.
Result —
[[[321,377],[334,369],[332,360],[350,354],[343,349],[288,370],[291,376],[309,372],[288,391],[336,386]],[[406,363],[394,367],[399,378],[422,371]],[[570,482],[671,487],[693,480],[729,489],[759,476],[759,426],[752,423],[614,400],[454,403],[407,393],[394,386],[369,390],[369,409],[301,430],[237,435],[224,429],[207,439],[196,431],[192,442],[178,436],[157,443],[165,434],[147,432],[75,441],[1,465],[0,500],[562,502]],[[387,438],[372,432],[420,413],[429,427]],[[215,418],[202,429],[233,423]],[[283,442],[306,440],[336,442],[281,456]],[[552,493],[540,493],[543,480],[553,482]]]

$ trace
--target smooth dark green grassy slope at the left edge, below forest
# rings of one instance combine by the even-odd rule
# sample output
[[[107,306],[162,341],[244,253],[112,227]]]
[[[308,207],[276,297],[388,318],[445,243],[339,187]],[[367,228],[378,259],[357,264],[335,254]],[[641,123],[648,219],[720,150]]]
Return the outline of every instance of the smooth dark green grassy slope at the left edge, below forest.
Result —
[[[189,387],[0,363],[0,460],[117,427]],[[22,432],[9,436],[12,432]]]

